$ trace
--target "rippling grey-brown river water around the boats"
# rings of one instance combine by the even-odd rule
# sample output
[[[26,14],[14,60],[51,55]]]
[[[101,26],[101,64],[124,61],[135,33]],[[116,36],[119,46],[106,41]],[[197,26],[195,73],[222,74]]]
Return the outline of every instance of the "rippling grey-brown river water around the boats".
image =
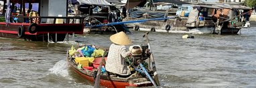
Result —
[[[132,31],[131,45],[145,43]],[[242,35],[149,33],[161,87],[256,87],[256,27]],[[109,47],[110,35],[78,35],[76,41]],[[0,87],[93,87],[69,69],[74,43],[0,39]]]

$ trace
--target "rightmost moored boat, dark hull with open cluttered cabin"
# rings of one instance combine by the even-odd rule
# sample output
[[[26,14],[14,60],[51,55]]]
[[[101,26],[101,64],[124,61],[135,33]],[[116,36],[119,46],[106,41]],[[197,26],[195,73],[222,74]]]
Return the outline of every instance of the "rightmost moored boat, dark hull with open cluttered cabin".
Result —
[[[214,5],[222,9],[216,9],[214,19],[216,21],[215,33],[221,35],[237,34],[245,25],[245,15],[250,13],[249,7],[242,5]],[[243,13],[242,13],[243,12]],[[248,20],[249,21],[249,17]]]

